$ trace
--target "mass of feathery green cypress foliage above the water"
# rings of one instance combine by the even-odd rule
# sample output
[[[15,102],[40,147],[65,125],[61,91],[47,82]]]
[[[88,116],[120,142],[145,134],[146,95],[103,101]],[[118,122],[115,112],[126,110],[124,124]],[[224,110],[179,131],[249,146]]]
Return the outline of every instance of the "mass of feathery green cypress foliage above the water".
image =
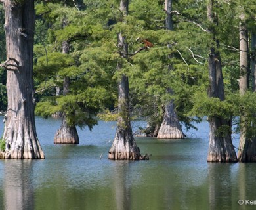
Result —
[[[75,2],[77,5],[72,0],[36,5],[36,114],[46,117],[65,112],[68,123],[89,129],[95,125],[98,112],[100,119],[115,120],[118,115],[112,110],[117,107],[117,81],[125,74],[129,77],[133,119],[142,117],[160,124],[165,104],[174,100],[179,120],[187,129],[203,116],[230,119],[244,112],[249,113],[247,119],[254,120],[254,94],[237,95],[237,26],[240,9],[244,8],[248,29],[255,30],[255,4],[251,1],[219,1],[215,9],[217,25],[207,20],[205,1],[173,1],[173,10],[179,12],[173,12],[173,31],[165,28],[162,0],[129,1],[125,17],[116,0]],[[215,30],[215,39],[220,43],[224,101],[207,96],[209,47],[217,47],[205,32],[209,27]],[[122,33],[128,43],[127,58],[120,56],[117,33]],[[144,39],[153,46],[143,49]],[[63,41],[70,45],[69,54],[60,53]],[[120,71],[116,71],[117,62],[122,66]],[[71,82],[68,95],[62,96],[64,77]],[[56,96],[57,87],[60,96]]]

